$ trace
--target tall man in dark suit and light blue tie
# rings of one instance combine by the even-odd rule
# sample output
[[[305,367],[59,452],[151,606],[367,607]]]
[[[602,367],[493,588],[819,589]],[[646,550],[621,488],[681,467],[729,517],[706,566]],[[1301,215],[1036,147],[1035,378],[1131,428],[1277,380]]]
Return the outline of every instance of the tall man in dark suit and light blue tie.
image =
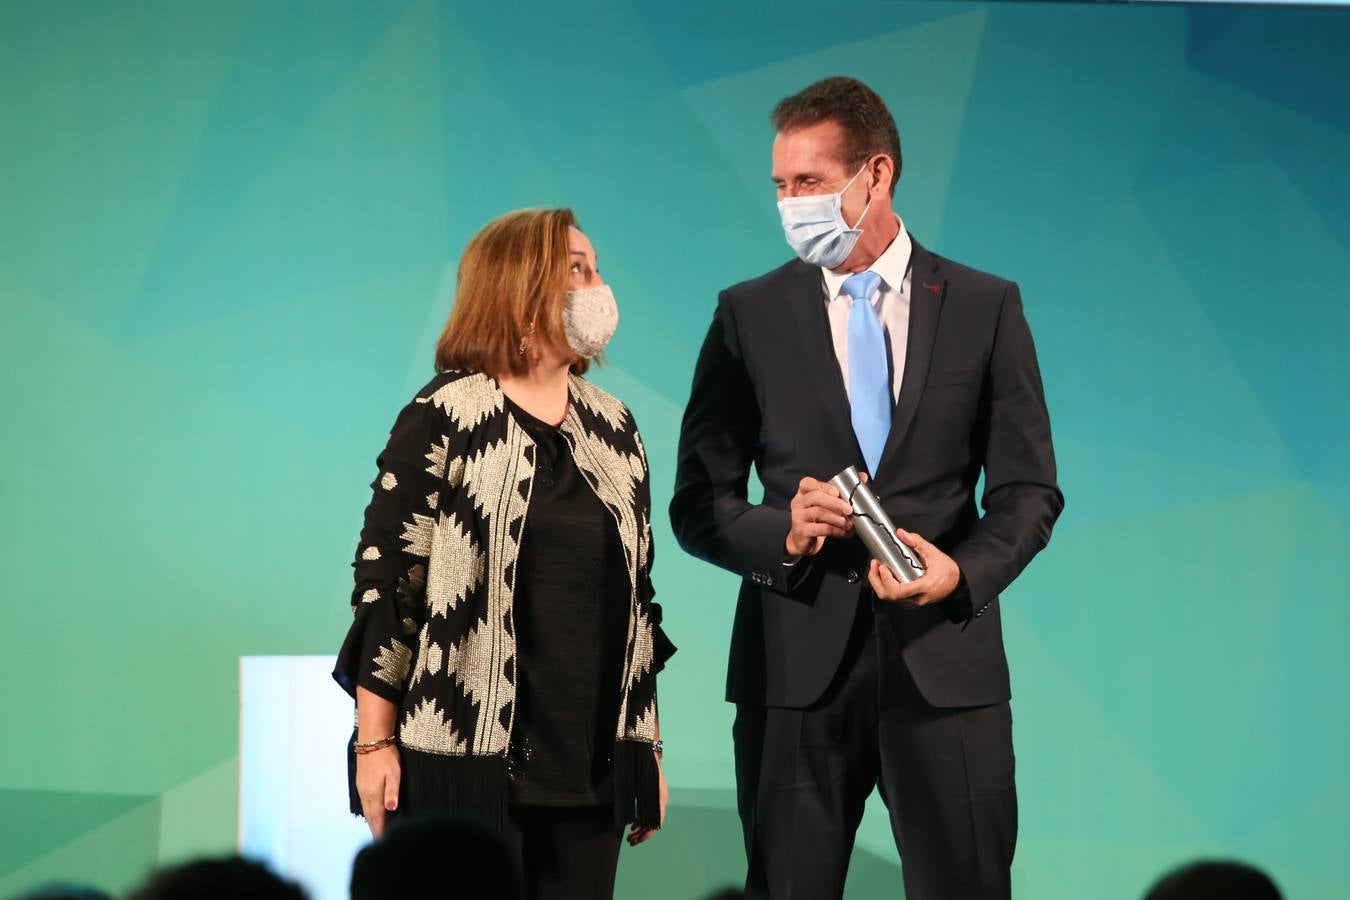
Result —
[[[671,502],[680,545],[744,578],[726,696],[747,887],[841,896],[880,787],[910,900],[1007,897],[1017,795],[998,595],[1064,506],[1022,300],[906,232],[891,209],[895,120],[865,85],[828,78],[772,121],[799,259],[718,297]],[[761,503],[747,495],[752,464]],[[848,466],[871,475],[926,567],[918,580],[853,536],[828,484]]]

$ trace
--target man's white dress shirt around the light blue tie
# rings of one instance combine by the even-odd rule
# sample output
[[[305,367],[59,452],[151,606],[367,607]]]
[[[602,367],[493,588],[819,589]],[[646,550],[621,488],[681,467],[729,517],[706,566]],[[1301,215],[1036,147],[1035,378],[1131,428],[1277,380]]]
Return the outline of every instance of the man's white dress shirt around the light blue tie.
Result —
[[[872,263],[869,271],[882,277],[872,294],[872,308],[882,320],[882,329],[891,347],[891,402],[900,398],[900,381],[905,378],[905,349],[910,337],[910,235],[899,216],[895,221],[900,233],[891,246]],[[822,269],[825,308],[830,318],[830,340],[834,343],[834,356],[840,360],[844,374],[844,390],[852,399],[848,383],[848,316],[853,309],[853,298],[844,293],[844,281],[853,273]]]

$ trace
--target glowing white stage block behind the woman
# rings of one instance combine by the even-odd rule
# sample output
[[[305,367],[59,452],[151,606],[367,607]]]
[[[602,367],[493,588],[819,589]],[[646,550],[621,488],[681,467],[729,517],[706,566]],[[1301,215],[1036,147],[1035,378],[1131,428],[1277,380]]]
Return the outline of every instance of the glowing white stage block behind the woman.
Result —
[[[239,660],[239,851],[346,900],[351,861],[370,841],[347,810],[352,700],[331,656]]]

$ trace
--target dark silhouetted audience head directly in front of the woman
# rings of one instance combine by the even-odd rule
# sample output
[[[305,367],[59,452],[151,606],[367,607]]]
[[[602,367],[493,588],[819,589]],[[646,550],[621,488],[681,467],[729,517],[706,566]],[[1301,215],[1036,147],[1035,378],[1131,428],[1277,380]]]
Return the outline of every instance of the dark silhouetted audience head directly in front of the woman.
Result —
[[[495,831],[450,815],[390,823],[356,854],[351,900],[446,896],[522,900],[516,853]]]

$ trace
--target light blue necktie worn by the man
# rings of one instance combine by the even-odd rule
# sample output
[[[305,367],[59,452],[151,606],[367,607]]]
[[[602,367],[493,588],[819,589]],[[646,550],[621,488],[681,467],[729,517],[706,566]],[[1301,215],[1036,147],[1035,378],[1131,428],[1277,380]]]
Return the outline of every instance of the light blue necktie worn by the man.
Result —
[[[848,389],[853,433],[863,449],[867,472],[876,478],[886,437],[891,433],[891,372],[886,362],[886,333],[872,308],[872,294],[882,283],[875,271],[844,279],[844,293],[853,298],[848,313]]]

